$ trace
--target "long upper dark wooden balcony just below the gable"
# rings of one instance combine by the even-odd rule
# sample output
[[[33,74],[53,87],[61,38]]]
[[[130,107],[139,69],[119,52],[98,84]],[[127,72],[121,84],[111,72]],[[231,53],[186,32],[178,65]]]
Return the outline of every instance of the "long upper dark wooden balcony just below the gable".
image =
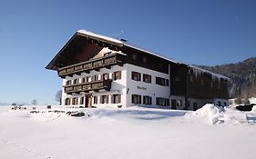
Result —
[[[99,70],[100,68],[110,68],[111,65],[122,65],[124,63],[124,56],[121,54],[106,55],[101,58],[91,59],[86,62],[75,65],[68,65],[58,69],[58,75],[64,78],[66,75],[79,75],[83,72],[89,73],[91,70]]]

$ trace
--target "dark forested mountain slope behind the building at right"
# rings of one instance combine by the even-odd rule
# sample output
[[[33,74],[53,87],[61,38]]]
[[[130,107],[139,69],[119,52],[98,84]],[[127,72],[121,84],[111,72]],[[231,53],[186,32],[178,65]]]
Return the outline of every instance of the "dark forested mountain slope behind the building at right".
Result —
[[[237,64],[205,66],[201,68],[230,78],[230,97],[256,96],[256,57]]]

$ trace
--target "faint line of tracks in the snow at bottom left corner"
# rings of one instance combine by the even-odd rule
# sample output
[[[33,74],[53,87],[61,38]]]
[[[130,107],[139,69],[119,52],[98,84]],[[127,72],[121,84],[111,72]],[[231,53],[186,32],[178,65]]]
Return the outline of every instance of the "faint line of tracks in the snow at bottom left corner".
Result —
[[[20,148],[22,149],[23,151],[25,151],[26,153],[32,153],[32,154],[36,154],[38,157],[40,158],[44,158],[44,159],[53,159],[50,155],[46,155],[46,154],[42,154],[42,153],[38,153],[36,152],[35,150],[31,149],[31,148],[28,148],[22,144],[17,144],[15,142],[10,142],[8,140],[5,140],[5,139],[1,139],[0,140],[1,143],[3,144],[7,144],[7,145],[11,145],[13,147],[16,147],[16,148]]]

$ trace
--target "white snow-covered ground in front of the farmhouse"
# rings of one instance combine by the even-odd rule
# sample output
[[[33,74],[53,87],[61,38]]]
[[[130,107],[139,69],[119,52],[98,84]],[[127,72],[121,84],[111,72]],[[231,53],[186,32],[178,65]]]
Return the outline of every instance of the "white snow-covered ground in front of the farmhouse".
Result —
[[[64,113],[1,106],[0,158],[256,158],[255,107],[56,109]],[[70,110],[86,115],[72,117]]]

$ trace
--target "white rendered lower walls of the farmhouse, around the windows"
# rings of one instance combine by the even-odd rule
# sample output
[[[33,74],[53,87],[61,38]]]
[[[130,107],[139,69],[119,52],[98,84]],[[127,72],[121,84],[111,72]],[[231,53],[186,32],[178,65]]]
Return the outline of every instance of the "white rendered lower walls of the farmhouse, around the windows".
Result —
[[[66,84],[67,80],[74,80],[79,79],[79,83],[83,77],[99,75],[98,78],[100,79],[100,75],[110,73],[109,78],[112,79],[112,73],[116,71],[121,71],[121,79],[112,81],[111,90],[110,91],[99,91],[99,92],[92,92],[92,95],[105,95],[108,94],[108,104],[100,104],[100,98],[97,97],[97,104],[94,104],[93,97],[92,97],[92,105],[96,107],[117,107],[118,105],[122,105],[122,107],[132,106],[132,105],[141,105],[141,106],[148,106],[148,104],[132,104],[131,102],[131,95],[132,94],[139,94],[141,95],[141,103],[143,103],[143,95],[148,95],[152,97],[152,104],[156,105],[156,97],[168,98],[169,99],[169,86],[162,86],[156,84],[156,76],[161,78],[166,78],[169,80],[168,74],[159,73],[157,71],[149,70],[147,68],[139,67],[136,65],[128,65],[125,64],[123,66],[114,65],[111,66],[111,69],[102,68],[97,71],[91,71],[90,74],[82,73],[81,75],[73,75],[72,77],[67,76],[66,79],[63,80],[63,85]],[[134,81],[131,79],[132,71],[138,72],[141,74],[141,81]],[[143,74],[151,75],[151,83],[143,82]],[[90,79],[89,79],[90,81]],[[144,87],[146,90],[138,89],[139,87]],[[65,99],[67,97],[81,97],[84,96],[83,94],[66,94],[63,90],[63,97],[62,97],[62,104],[65,104]],[[121,103],[120,104],[111,104],[111,95],[112,94],[121,94]],[[78,98],[78,105],[80,106],[80,98]],[[72,102],[71,102],[72,105]]]

